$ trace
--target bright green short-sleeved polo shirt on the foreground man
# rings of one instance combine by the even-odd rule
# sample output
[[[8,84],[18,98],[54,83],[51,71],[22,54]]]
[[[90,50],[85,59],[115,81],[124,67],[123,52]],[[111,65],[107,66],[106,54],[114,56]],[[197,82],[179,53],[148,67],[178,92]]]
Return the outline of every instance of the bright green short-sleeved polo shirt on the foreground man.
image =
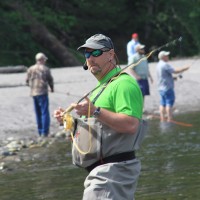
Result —
[[[100,87],[91,94],[90,100],[93,100],[102,89],[102,86],[120,71],[120,68],[114,68],[104,76],[104,78],[98,82],[97,86]],[[106,86],[104,91],[97,98],[95,106],[141,119],[143,97],[135,79],[124,73],[120,76],[116,76],[116,79]]]

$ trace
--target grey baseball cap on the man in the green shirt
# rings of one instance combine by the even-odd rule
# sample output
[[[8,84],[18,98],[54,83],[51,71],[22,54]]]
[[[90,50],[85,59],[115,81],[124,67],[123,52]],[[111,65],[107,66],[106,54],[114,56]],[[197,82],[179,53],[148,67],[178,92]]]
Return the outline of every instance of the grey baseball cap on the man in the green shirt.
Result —
[[[78,47],[77,50],[80,50],[82,48],[90,48],[90,49],[114,49],[114,45],[112,40],[103,35],[103,34],[95,34],[88,38],[82,46]]]

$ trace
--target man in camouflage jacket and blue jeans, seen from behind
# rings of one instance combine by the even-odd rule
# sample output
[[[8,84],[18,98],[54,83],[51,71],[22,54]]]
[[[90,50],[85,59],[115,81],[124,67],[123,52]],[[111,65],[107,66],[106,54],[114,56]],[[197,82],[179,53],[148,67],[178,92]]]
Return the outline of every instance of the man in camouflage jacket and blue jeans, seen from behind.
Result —
[[[50,126],[48,87],[54,92],[54,82],[50,69],[45,65],[45,54],[38,53],[35,59],[36,64],[27,71],[26,84],[30,86],[30,95],[33,97],[38,133],[47,137]]]

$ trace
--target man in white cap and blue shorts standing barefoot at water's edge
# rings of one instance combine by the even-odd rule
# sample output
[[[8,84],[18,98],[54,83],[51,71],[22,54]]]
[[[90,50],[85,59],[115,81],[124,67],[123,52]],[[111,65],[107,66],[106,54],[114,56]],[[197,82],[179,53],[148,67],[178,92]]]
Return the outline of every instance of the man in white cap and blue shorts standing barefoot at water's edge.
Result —
[[[172,108],[175,102],[174,78],[172,74],[181,73],[189,69],[189,67],[174,69],[167,63],[169,61],[169,54],[169,51],[161,51],[158,54],[159,62],[157,64],[160,120],[164,121],[165,114],[167,114],[168,122],[172,120]]]

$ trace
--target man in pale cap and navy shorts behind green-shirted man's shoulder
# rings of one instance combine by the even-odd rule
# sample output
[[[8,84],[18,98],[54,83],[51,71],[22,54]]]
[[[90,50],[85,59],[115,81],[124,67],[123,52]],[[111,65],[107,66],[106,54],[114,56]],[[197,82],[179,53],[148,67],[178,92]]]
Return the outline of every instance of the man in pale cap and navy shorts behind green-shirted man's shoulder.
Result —
[[[135,46],[135,51],[136,53],[133,55],[131,61],[131,63],[135,63],[135,65],[130,68],[130,74],[132,74],[137,80],[142,91],[143,98],[145,98],[146,95],[150,95],[148,79],[150,79],[151,83],[153,83],[153,78],[149,71],[148,60],[145,56],[145,45],[137,44]]]

